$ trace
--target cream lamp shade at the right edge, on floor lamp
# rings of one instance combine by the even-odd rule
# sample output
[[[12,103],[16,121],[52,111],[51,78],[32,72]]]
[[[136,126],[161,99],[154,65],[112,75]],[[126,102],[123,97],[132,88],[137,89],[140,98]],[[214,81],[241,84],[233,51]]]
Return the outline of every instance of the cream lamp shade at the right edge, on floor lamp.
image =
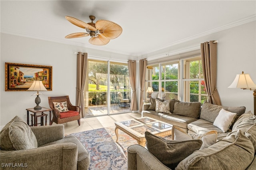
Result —
[[[252,81],[249,74],[237,74],[233,83],[228,88],[255,89],[256,84]]]

